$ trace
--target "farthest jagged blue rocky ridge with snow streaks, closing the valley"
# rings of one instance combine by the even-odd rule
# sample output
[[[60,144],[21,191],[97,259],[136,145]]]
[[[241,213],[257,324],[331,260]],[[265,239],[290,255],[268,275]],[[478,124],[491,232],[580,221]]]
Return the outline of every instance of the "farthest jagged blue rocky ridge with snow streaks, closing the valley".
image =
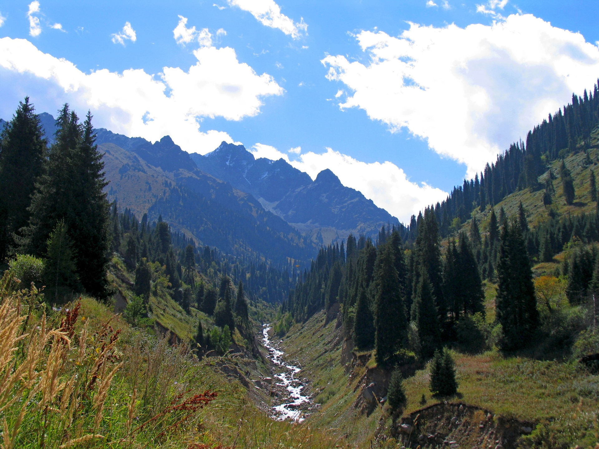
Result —
[[[376,207],[357,190],[343,186],[328,169],[312,181],[283,159],[255,159],[243,145],[222,142],[216,150],[201,156],[191,154],[202,171],[228,181],[237,189],[252,193],[267,210],[308,233],[328,228],[328,243],[350,232],[376,235],[387,223],[398,220]]]

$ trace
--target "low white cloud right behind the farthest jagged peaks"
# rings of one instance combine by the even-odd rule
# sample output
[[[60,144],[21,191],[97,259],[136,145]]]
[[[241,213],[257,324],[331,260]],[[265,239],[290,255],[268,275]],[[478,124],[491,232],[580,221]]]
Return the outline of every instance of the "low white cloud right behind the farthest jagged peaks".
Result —
[[[256,144],[250,151],[256,158],[283,158],[295,168],[307,172],[312,179],[316,179],[321,171],[328,168],[337,175],[341,184],[359,190],[378,207],[398,217],[401,222],[409,221],[412,214],[418,214],[426,206],[443,201],[447,197],[443,190],[434,189],[424,183],[421,186],[412,183],[404,171],[394,163],[365,163],[332,148],[326,148],[326,153],[322,154],[310,151],[299,156],[297,160],[289,160],[287,154],[270,145]]]

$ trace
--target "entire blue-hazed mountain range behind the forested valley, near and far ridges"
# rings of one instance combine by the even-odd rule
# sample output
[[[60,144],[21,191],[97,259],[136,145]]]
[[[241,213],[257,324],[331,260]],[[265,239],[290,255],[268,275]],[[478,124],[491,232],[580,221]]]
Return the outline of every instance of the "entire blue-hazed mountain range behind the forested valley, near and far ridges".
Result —
[[[50,145],[55,119],[39,117]],[[350,233],[376,238],[380,227],[399,225],[329,169],[312,180],[286,160],[256,159],[243,145],[222,142],[202,156],[181,150],[170,136],[152,143],[104,128],[96,136],[109,201],[138,219],[162,216],[198,244],[231,254],[308,260],[321,244]]]

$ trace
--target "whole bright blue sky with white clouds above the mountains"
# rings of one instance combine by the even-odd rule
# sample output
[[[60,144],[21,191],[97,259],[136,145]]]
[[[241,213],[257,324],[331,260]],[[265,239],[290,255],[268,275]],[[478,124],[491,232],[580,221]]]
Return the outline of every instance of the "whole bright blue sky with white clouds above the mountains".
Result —
[[[406,222],[599,77],[596,0],[0,0],[26,95],[205,154],[325,168]]]

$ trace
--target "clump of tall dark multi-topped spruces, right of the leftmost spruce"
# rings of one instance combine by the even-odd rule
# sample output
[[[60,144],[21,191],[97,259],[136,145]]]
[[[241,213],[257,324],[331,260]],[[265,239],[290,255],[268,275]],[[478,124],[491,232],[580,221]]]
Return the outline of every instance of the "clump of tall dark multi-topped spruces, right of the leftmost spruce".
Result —
[[[58,131],[46,171],[31,199],[23,249],[38,257],[46,254],[50,234],[63,221],[81,285],[91,295],[105,298],[110,216],[104,193],[104,163],[95,144],[92,116],[88,113],[80,123],[65,104],[56,123]]]

